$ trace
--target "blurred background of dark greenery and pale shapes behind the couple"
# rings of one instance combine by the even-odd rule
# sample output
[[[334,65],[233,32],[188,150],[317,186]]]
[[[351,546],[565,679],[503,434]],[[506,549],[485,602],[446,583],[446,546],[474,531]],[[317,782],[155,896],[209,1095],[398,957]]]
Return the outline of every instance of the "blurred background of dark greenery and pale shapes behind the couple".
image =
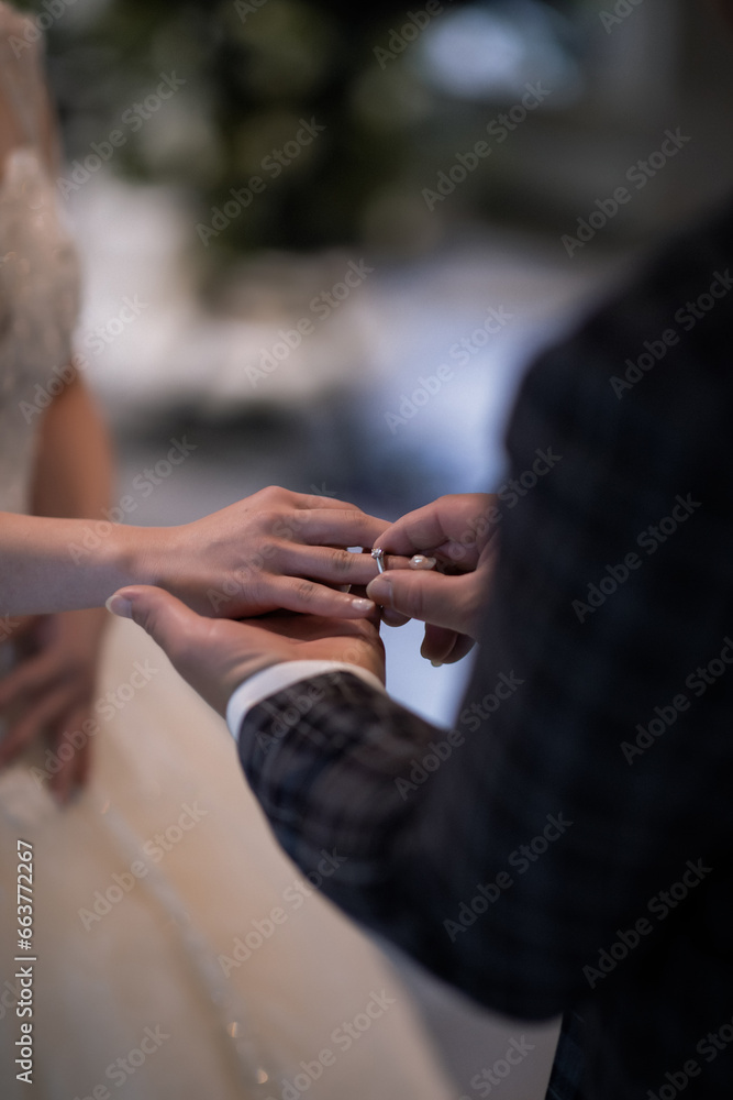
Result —
[[[733,183],[704,4],[18,7],[47,40],[78,346],[134,522],[271,483],[386,519],[498,486],[533,354]],[[171,439],[191,448],[173,472]],[[387,640],[395,694],[451,723],[466,670],[423,668],[417,627]],[[511,1030],[409,980],[476,1094]],[[507,1100],[544,1096],[553,1042]]]

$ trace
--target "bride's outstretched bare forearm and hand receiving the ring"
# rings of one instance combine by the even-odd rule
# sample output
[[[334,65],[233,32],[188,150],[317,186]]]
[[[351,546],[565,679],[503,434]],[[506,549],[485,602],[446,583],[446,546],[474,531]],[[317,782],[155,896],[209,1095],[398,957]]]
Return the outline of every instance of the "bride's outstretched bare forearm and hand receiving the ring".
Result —
[[[92,460],[81,450],[65,461]],[[101,479],[95,488],[92,472],[89,477],[82,493],[89,519],[0,514],[0,620],[100,607],[126,584],[164,587],[212,617],[282,607],[359,618],[373,610],[338,588],[376,575],[369,556],[346,548],[370,547],[387,527],[384,519],[270,487],[186,526],[127,527],[96,518]]]

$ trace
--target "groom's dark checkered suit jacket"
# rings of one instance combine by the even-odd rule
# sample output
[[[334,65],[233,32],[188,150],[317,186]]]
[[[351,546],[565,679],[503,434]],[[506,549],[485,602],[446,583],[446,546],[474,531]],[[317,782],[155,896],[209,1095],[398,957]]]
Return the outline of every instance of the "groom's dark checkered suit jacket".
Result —
[[[451,734],[348,674],[242,729],[300,867],[482,1004],[575,1010],[592,1100],[733,1096],[732,260],[726,209],[526,377]]]

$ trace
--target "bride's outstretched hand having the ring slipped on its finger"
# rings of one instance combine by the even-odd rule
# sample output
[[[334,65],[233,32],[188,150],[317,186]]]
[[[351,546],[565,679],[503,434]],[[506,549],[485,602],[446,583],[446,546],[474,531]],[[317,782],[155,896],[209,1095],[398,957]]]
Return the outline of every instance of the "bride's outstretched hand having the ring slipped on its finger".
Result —
[[[148,584],[210,617],[285,608],[364,618],[374,604],[340,588],[368,584],[377,566],[347,548],[373,546],[386,527],[354,505],[270,487],[193,524],[159,529],[145,573]]]

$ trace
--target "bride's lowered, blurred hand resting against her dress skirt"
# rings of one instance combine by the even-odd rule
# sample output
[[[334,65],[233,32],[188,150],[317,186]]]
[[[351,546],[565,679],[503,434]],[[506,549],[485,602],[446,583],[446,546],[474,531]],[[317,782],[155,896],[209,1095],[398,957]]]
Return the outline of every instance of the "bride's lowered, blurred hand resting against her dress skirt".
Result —
[[[105,620],[99,610],[41,615],[25,619],[5,642],[19,661],[0,679],[0,715],[8,726],[0,768],[43,741],[55,766],[49,785],[60,803],[84,787],[89,773],[90,738],[81,748],[71,738],[93,713]]]

